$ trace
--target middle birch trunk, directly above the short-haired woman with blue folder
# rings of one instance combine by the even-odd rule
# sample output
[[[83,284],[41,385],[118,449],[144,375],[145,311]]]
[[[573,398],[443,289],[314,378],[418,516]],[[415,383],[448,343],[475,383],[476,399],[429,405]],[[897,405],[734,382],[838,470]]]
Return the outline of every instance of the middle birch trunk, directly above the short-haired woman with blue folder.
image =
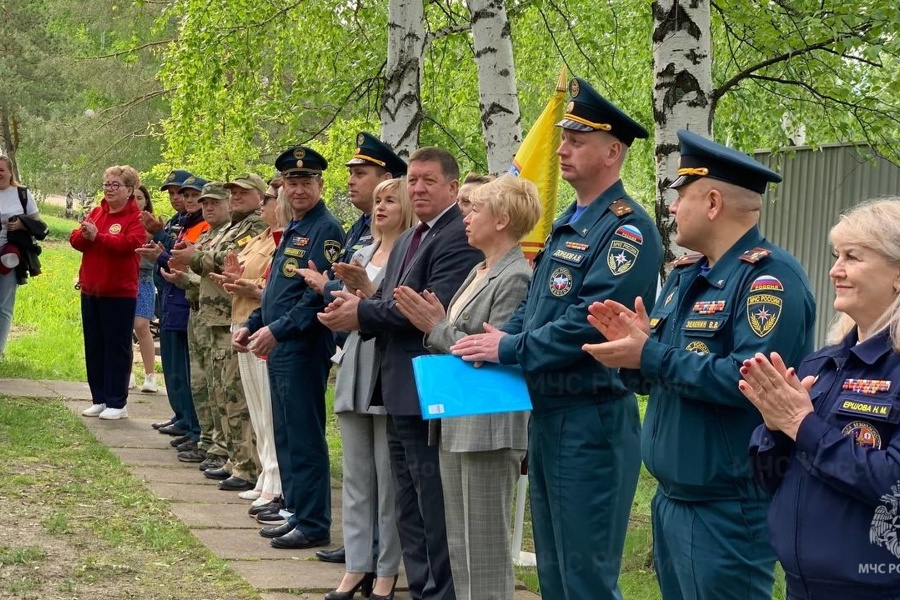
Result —
[[[506,172],[522,142],[512,39],[504,0],[469,0],[488,171]]]

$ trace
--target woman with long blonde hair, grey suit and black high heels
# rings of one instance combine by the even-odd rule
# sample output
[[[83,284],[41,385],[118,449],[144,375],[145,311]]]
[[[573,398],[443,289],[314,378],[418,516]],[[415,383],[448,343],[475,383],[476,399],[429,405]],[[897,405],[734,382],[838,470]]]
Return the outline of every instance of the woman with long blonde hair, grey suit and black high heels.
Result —
[[[384,277],[394,242],[412,226],[414,215],[402,179],[375,188],[372,235],[375,243],[356,252],[349,264],[335,264],[345,289],[371,296]],[[340,272],[338,272],[340,270]],[[382,406],[369,407],[375,376],[375,340],[362,341],[358,331],[347,336],[334,388],[343,446],[344,547],[347,572],[326,600],[348,600],[360,588],[372,598],[390,598],[400,568],[400,539],[394,516],[394,482],[387,443],[387,416]],[[378,531],[378,556],[372,565],[372,546]],[[377,577],[375,577],[377,576]],[[379,593],[380,592],[380,593]],[[377,595],[376,595],[377,594]]]

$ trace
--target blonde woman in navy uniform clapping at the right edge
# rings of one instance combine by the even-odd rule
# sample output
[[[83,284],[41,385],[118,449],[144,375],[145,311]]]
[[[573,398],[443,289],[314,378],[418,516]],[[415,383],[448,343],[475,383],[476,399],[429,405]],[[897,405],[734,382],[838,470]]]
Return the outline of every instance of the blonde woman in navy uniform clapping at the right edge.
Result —
[[[900,558],[900,199],[851,209],[830,239],[829,345],[741,369],[764,420],[750,456],[789,599],[896,598],[900,572],[878,565]]]

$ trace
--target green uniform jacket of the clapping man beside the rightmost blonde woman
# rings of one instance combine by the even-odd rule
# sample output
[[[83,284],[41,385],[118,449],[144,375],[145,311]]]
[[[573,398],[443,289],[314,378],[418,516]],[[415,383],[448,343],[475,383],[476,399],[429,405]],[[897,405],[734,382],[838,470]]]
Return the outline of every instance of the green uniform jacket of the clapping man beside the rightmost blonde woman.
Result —
[[[705,272],[682,257],[650,312],[641,368],[626,384],[650,394],[644,464],[677,500],[761,498],[747,444],[762,417],[738,390],[756,352],[798,365],[812,351],[816,305],[797,260],[754,227]]]

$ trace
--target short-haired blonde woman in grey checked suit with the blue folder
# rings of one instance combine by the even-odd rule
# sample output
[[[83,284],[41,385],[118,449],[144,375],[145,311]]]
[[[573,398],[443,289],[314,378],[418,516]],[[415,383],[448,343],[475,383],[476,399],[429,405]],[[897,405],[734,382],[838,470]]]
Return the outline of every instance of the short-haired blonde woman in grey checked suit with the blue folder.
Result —
[[[484,253],[450,301],[447,314],[430,292],[394,292],[397,307],[425,333],[425,346],[450,346],[484,324],[499,327],[525,298],[531,267],[519,241],[540,218],[534,184],[504,175],[477,188],[465,218],[469,244]],[[485,399],[488,401],[488,399]],[[513,488],[528,446],[528,412],[443,419],[432,430],[440,444],[441,483],[450,567],[457,600],[512,600],[515,591],[509,522]]]

